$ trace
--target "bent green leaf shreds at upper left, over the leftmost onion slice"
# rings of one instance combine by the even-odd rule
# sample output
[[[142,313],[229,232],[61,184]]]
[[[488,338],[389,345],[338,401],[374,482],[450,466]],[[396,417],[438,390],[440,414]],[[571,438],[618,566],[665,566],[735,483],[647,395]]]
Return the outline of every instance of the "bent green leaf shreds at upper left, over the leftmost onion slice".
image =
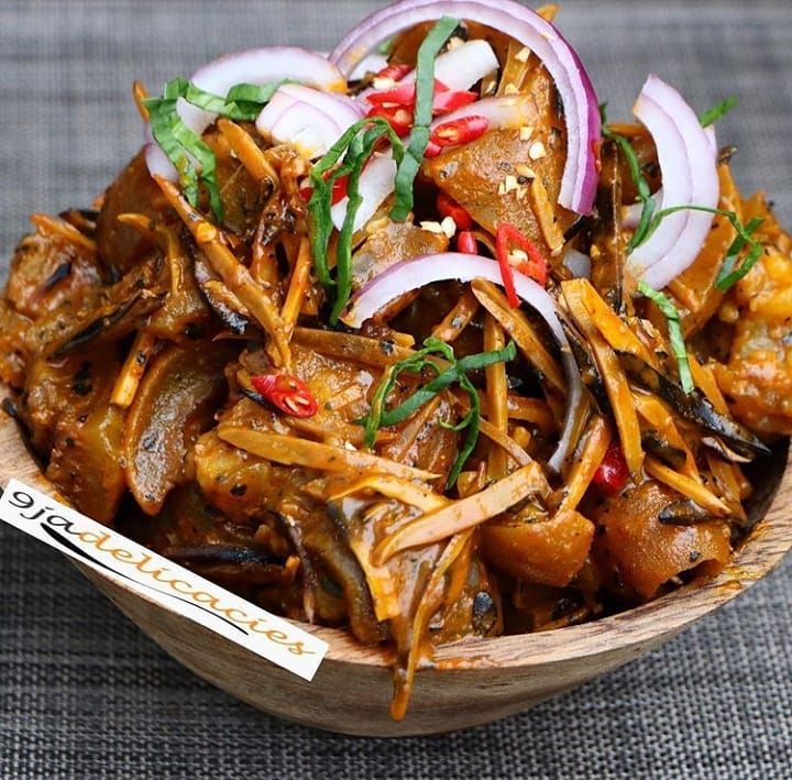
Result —
[[[209,146],[179,117],[176,110],[178,98],[221,117],[253,121],[283,84],[285,80],[261,86],[238,84],[231,87],[228,97],[222,98],[184,78],[175,78],[165,85],[162,97],[143,101],[148,109],[152,135],[178,171],[185,197],[197,207],[198,183],[204,184],[209,195],[209,206],[218,221],[223,218],[223,208],[217,184],[217,160]]]

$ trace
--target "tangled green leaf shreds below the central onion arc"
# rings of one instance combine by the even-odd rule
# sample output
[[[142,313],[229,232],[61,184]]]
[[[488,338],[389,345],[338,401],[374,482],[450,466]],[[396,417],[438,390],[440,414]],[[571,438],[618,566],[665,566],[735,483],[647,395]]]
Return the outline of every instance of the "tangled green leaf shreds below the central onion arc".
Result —
[[[442,358],[451,363],[451,365],[440,373],[437,363],[432,360],[432,356]],[[468,372],[484,369],[487,365],[493,365],[494,363],[514,360],[516,356],[517,349],[515,348],[514,342],[509,342],[502,350],[481,352],[479,354],[468,355],[466,358],[457,360],[451,347],[439,339],[429,337],[424,342],[424,349],[418,350],[418,352],[405,360],[394,363],[374,392],[371,411],[369,413],[369,416],[362,420],[365,424],[364,440],[366,447],[372,448],[374,446],[376,432],[380,428],[404,422],[438,393],[442,393],[452,384],[457,383],[468,394],[471,408],[458,425],[451,426],[450,424],[441,424],[444,428],[449,428],[451,430],[468,431],[465,440],[460,448],[459,454],[457,455],[457,460],[449,473],[447,487],[452,487],[457,483],[457,479],[459,477],[465,461],[473,452],[479,439],[481,399],[479,397],[479,391],[476,391],[475,386],[468,376]],[[393,388],[396,386],[399,375],[404,372],[419,374],[426,369],[433,371],[437,374],[436,377],[428,384],[419,387],[413,395],[409,396],[409,398],[399,404],[397,407],[393,409],[385,409],[385,402]]]

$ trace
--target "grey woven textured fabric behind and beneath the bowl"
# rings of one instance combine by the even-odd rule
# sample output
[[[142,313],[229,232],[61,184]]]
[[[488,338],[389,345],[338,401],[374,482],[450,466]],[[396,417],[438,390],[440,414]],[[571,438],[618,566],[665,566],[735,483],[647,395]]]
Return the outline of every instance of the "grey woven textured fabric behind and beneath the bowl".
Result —
[[[87,205],[140,143],[152,89],[223,51],[330,48],[366,0],[0,1],[0,254],[35,210]],[[568,2],[610,116],[647,72],[740,147],[748,190],[792,223],[792,2]],[[4,262],[4,261],[3,261]],[[3,274],[4,274],[3,267]],[[661,651],[520,716],[402,743],[286,725],[182,669],[62,558],[0,527],[0,777],[784,778],[792,561]]]

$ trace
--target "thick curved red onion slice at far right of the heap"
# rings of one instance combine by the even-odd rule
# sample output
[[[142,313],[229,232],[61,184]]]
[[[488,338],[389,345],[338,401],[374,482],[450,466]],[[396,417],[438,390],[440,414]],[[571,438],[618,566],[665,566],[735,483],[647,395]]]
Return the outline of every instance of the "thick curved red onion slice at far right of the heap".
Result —
[[[701,127],[684,98],[654,75],[634,108],[654,140],[662,178],[661,208],[718,205],[717,141]],[[651,238],[629,257],[632,273],[656,289],[688,268],[701,252],[713,215],[679,211],[663,218]]]

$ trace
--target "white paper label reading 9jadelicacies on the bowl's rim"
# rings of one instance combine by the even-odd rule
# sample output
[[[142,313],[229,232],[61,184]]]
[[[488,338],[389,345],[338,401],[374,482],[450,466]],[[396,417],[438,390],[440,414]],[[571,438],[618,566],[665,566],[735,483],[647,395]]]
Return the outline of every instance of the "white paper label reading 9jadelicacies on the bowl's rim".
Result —
[[[0,520],[89,565],[122,587],[199,623],[304,680],[312,680],[328,645],[202,576],[10,480]]]

